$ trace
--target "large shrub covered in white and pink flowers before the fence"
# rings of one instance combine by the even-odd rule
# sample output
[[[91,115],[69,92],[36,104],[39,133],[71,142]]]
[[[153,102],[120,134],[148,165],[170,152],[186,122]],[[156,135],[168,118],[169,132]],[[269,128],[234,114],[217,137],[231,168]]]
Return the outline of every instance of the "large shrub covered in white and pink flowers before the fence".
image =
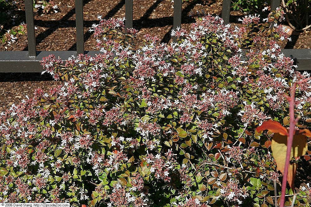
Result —
[[[177,43],[146,35],[138,50],[137,30],[101,20],[101,54],[45,57],[44,72],[64,83],[1,113],[0,201],[274,206],[272,135],[255,129],[288,125],[282,95],[310,76],[281,53],[282,16],[272,13],[272,25],[245,16],[233,28],[208,15],[174,30]],[[310,84],[297,85],[299,128],[310,127]],[[296,205],[310,198],[307,185]]]

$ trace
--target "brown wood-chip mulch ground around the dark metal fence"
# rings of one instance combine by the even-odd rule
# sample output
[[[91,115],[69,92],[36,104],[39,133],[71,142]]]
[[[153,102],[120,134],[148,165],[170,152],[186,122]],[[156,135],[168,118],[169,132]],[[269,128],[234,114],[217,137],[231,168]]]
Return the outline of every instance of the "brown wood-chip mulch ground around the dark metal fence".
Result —
[[[55,1],[57,2],[57,1]],[[35,15],[36,49],[38,51],[66,51],[76,50],[75,7],[74,0],[59,1],[59,12],[43,16]],[[162,42],[172,41],[170,31],[173,25],[173,2],[169,0],[140,0],[133,1],[133,27],[139,30],[138,39],[145,34],[158,35]],[[18,3],[20,9],[16,11],[19,18],[16,25],[25,21],[24,6]],[[182,11],[182,28],[190,29],[197,16],[203,14],[221,15],[222,0],[185,1]],[[231,11],[230,21],[238,23],[243,13]],[[102,18],[118,18],[125,15],[125,0],[100,1],[84,0],[84,32],[85,50],[96,50],[93,34],[89,32],[92,24],[98,23],[97,15]],[[25,21],[26,22],[26,21]],[[12,28],[12,27],[11,27]],[[7,29],[11,29],[7,28]],[[309,32],[292,35],[292,43],[283,43],[285,48],[311,48]],[[26,35],[18,35],[16,43],[11,46],[0,44],[0,51],[27,50]],[[59,82],[49,76],[41,74],[3,74],[0,73],[0,111],[7,109],[12,103],[19,103],[28,94],[29,97],[35,88],[48,90]]]

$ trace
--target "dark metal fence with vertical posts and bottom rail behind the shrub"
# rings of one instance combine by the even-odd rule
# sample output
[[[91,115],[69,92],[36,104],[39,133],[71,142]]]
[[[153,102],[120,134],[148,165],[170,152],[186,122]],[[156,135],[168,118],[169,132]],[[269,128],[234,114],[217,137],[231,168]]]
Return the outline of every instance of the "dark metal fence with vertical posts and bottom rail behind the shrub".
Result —
[[[280,5],[280,0],[272,0],[271,9],[275,10]],[[221,17],[227,24],[230,20],[230,0],[223,0]],[[56,57],[67,59],[80,53],[95,55],[99,51],[84,51],[83,31],[83,0],[75,0],[77,51],[36,51],[35,25],[32,0],[25,0],[28,51],[1,51],[0,72],[41,72],[39,63],[43,57],[54,54]],[[133,27],[133,0],[125,0],[125,26]],[[180,27],[182,23],[182,0],[174,0],[173,28]],[[311,49],[283,49],[286,56],[295,59],[298,70],[310,70]]]

